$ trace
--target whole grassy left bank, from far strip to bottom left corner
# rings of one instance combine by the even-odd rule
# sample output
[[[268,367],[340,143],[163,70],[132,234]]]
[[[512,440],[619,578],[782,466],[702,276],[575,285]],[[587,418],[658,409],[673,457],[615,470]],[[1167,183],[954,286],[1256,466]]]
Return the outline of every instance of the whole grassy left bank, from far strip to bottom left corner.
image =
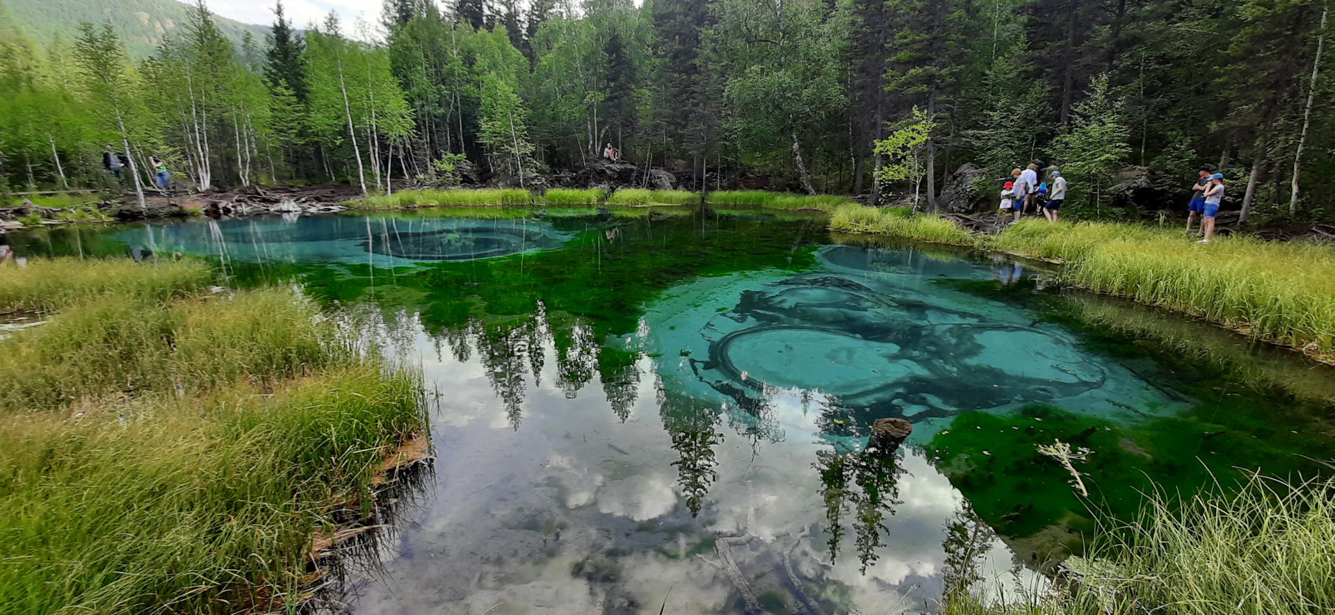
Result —
[[[61,273],[63,272],[63,273]],[[56,275],[61,273],[61,275]],[[0,608],[270,612],[425,424],[421,376],[192,260],[0,268]]]

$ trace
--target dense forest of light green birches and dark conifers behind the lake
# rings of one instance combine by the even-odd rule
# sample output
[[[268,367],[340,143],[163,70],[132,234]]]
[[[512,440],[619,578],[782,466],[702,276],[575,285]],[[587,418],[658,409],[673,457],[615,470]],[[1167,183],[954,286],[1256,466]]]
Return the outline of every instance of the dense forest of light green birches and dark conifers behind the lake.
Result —
[[[541,185],[610,143],[688,188],[925,208],[964,164],[991,200],[1040,161],[1087,217],[1180,208],[1210,164],[1254,220],[1335,215],[1327,0],[386,0],[378,23],[304,32],[276,16],[238,47],[200,1],[131,61],[109,24],[43,43],[0,13],[9,189],[104,183],[105,143],[136,185],[156,155],[200,189],[366,192]]]

